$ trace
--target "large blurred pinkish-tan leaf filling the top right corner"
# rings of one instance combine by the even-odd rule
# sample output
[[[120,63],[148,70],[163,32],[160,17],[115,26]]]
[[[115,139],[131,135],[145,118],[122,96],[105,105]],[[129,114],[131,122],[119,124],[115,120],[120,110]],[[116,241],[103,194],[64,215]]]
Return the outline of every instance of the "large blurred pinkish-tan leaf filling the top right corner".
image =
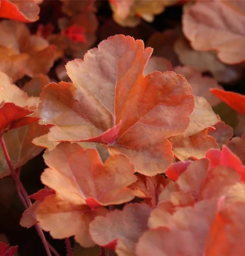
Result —
[[[245,60],[244,22],[243,1],[197,1],[184,8],[183,32],[194,49],[234,64]]]

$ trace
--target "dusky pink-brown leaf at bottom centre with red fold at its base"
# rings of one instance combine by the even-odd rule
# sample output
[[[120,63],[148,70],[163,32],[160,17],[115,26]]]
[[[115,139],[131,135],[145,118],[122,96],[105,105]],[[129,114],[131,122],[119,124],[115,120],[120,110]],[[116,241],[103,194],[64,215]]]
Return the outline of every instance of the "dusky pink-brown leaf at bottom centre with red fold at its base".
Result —
[[[131,255],[141,234],[148,229],[150,211],[149,205],[144,203],[127,204],[122,211],[114,210],[96,217],[89,226],[89,233],[96,244],[116,249],[117,255]],[[123,253],[125,248],[128,254]]]

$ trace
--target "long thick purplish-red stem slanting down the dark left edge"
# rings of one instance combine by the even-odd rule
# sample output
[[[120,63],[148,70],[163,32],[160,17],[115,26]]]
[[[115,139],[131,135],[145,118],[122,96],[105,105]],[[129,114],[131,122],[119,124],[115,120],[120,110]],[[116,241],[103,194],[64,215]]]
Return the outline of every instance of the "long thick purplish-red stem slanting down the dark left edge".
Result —
[[[6,162],[9,166],[9,169],[10,169],[10,172],[11,172],[11,175],[15,181],[15,185],[16,185],[16,189],[17,189],[17,193],[18,193],[18,196],[21,200],[21,202],[24,204],[24,206],[26,207],[30,207],[32,205],[31,203],[31,200],[26,192],[26,189],[24,188],[23,184],[21,183],[21,181],[19,180],[19,177],[18,175],[16,174],[15,170],[14,170],[14,167],[11,163],[11,160],[10,160],[10,157],[9,157],[9,153],[8,153],[8,150],[6,148],[6,144],[4,142],[4,139],[3,139],[3,134],[0,134],[0,144],[1,144],[1,147],[2,147],[2,150],[3,150],[3,154],[4,154],[4,157],[6,159]],[[41,227],[36,224],[35,225],[35,228],[37,229],[37,232],[43,242],[43,245],[45,247],[45,250],[46,250],[46,253],[48,256],[52,256],[49,248],[48,248],[48,244],[47,244],[47,240],[45,239],[45,236],[44,236],[44,233],[43,233],[43,230],[41,229]]]

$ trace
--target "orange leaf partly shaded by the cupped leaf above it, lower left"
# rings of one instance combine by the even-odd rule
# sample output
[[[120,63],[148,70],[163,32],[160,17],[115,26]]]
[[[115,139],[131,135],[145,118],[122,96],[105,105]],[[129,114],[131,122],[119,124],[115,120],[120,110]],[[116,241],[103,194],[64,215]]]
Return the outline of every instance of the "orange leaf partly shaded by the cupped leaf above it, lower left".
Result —
[[[88,233],[90,222],[105,215],[105,208],[92,210],[85,204],[71,204],[55,195],[47,197],[36,210],[37,220],[55,239],[75,236],[75,240],[84,247],[95,245]]]

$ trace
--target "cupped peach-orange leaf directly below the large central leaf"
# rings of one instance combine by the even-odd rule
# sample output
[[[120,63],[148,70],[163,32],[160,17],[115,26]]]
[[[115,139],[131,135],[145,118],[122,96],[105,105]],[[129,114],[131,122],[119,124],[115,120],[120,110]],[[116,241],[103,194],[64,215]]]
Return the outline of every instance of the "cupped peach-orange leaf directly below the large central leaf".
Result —
[[[103,164],[94,149],[84,150],[77,143],[61,143],[45,156],[42,182],[64,200],[76,204],[121,204],[133,199],[127,186],[136,181],[133,165],[125,155],[109,157]]]

